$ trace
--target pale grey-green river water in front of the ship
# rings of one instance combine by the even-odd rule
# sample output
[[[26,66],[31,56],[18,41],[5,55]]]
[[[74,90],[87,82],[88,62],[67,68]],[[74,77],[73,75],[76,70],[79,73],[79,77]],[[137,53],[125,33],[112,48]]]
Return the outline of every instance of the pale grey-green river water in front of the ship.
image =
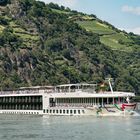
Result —
[[[139,140],[140,116],[0,115],[0,140]]]

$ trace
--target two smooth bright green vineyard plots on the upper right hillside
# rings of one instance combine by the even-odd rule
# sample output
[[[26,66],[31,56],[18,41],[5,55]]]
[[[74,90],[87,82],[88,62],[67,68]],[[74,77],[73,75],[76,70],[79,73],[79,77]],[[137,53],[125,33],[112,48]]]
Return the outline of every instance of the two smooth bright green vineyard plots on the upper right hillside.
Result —
[[[97,20],[93,21],[77,21],[77,23],[85,28],[100,35],[100,41],[115,50],[132,51],[129,45],[133,43],[127,34],[121,31],[114,31],[110,26],[100,23]],[[123,40],[123,42],[121,42]],[[127,45],[126,45],[127,44]]]

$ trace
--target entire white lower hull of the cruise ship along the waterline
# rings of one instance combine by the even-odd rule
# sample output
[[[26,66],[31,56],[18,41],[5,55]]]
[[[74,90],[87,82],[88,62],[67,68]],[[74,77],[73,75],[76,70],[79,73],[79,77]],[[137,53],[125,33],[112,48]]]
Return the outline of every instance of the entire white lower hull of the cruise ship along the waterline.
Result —
[[[0,110],[0,114],[12,115],[47,115],[47,116],[124,116],[134,115],[136,110],[119,110],[116,107],[106,108],[49,108],[43,110]]]

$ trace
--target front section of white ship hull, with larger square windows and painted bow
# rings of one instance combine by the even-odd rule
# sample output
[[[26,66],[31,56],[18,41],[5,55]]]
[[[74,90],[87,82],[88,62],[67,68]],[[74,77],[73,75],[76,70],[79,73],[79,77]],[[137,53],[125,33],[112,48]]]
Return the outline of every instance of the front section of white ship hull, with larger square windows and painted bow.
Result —
[[[131,110],[121,110],[114,105],[107,108],[97,108],[97,107],[87,107],[87,108],[49,108],[44,111],[44,115],[49,116],[124,116],[124,115],[134,115],[136,109]]]

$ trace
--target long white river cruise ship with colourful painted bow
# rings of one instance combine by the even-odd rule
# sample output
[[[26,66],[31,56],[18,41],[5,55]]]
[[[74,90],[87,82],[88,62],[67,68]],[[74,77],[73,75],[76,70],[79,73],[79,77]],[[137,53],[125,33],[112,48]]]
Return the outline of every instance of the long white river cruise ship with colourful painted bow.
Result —
[[[21,87],[0,91],[1,114],[28,115],[133,115],[136,103],[131,92],[96,92],[96,84]]]

